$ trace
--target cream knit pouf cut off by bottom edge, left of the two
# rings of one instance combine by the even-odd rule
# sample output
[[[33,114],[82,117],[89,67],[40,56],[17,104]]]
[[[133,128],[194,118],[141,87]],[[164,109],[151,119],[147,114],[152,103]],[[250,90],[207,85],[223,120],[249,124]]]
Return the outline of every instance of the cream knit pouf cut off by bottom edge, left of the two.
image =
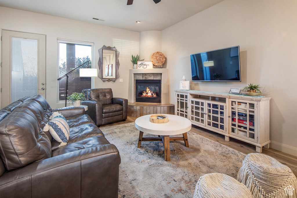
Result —
[[[210,173],[199,178],[193,198],[252,198],[242,183],[221,173]]]

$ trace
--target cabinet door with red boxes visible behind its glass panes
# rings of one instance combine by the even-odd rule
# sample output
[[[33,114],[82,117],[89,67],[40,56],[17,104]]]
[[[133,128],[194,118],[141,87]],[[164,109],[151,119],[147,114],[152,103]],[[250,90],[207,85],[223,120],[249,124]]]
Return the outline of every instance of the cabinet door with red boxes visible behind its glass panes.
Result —
[[[257,142],[257,102],[230,99],[230,134]]]

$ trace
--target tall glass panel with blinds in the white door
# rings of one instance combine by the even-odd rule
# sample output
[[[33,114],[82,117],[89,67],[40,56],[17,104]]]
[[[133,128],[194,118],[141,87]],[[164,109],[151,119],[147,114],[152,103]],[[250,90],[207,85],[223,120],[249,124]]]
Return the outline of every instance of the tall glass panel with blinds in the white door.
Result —
[[[38,41],[11,39],[11,102],[38,93]]]

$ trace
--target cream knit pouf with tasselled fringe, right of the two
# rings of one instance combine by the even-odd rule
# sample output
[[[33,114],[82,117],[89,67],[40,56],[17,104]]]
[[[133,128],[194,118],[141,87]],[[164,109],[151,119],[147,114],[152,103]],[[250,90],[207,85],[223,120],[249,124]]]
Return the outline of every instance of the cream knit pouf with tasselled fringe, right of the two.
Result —
[[[237,180],[247,186],[254,198],[297,198],[297,180],[291,169],[261,153],[245,157]]]

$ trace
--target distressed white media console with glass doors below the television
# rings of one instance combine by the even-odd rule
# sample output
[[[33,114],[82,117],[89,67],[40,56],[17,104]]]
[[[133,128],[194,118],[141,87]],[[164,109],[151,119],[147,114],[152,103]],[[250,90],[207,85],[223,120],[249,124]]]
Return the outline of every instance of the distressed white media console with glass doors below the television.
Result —
[[[243,96],[195,90],[175,90],[175,115],[192,124],[256,146],[269,148],[269,101],[265,96]]]

